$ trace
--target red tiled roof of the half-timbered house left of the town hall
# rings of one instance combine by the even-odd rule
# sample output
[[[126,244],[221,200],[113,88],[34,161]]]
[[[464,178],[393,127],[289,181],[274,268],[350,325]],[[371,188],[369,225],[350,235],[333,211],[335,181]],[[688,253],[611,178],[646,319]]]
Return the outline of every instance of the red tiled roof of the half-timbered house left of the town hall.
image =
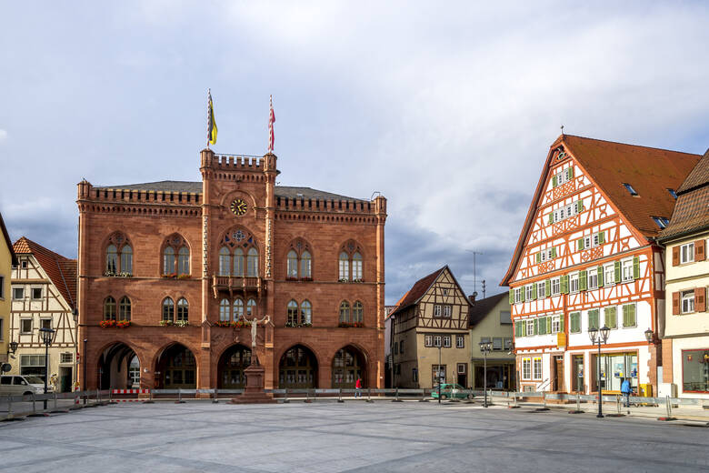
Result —
[[[64,297],[70,307],[76,307],[76,260],[63,257],[27,237],[13,245],[17,255],[32,255]]]

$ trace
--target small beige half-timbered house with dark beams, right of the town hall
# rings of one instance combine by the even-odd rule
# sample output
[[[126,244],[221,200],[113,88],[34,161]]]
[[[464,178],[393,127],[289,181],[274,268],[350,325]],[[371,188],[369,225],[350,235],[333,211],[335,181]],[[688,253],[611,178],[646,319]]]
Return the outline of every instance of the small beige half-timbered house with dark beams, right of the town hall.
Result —
[[[394,387],[470,385],[470,302],[445,266],[419,279],[389,315]]]

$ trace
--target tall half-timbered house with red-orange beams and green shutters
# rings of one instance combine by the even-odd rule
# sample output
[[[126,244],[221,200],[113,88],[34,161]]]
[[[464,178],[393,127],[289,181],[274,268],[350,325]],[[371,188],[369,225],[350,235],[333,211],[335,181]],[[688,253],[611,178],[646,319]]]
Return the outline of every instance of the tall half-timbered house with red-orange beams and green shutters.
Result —
[[[607,326],[601,388],[656,387],[664,262],[654,238],[700,156],[559,136],[502,281],[523,390],[598,390],[589,328]]]

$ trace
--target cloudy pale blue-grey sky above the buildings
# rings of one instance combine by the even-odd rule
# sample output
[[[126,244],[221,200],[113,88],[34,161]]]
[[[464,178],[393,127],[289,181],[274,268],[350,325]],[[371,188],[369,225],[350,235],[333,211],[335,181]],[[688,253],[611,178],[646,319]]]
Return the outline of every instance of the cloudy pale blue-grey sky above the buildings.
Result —
[[[76,256],[76,183],[199,181],[262,156],[283,186],[388,199],[386,302],[449,265],[505,290],[564,133],[709,147],[705,2],[3,2],[0,212]],[[474,284],[475,282],[475,284]]]

